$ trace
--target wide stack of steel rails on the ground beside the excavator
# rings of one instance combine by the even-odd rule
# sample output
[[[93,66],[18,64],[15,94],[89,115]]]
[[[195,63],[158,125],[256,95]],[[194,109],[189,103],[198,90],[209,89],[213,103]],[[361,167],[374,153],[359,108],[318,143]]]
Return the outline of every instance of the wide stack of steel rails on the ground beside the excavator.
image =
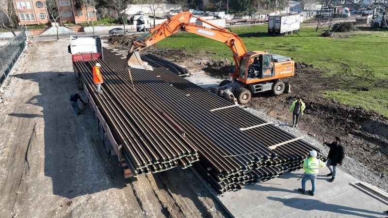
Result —
[[[310,150],[320,153],[307,142],[143,58],[154,70],[131,68],[129,74],[125,58],[104,49],[103,76],[114,74],[124,81],[125,90],[133,87],[147,106],[169,114],[198,150],[199,161],[194,166],[219,192],[299,169]],[[110,85],[104,84],[104,88]]]

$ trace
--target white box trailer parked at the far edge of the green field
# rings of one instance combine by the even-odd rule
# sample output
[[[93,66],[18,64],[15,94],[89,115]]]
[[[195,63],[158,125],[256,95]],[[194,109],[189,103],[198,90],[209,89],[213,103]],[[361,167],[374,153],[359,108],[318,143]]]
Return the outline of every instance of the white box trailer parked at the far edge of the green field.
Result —
[[[300,30],[300,14],[275,15],[268,17],[268,34],[280,35],[294,33]]]

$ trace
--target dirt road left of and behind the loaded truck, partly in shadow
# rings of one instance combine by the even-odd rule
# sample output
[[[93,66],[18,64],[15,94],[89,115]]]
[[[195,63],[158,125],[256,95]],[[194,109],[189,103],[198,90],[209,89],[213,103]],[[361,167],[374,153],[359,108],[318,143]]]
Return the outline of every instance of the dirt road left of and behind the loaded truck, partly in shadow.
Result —
[[[90,109],[69,104],[68,43],[30,46],[0,94],[0,217],[228,217],[190,169],[124,179]]]

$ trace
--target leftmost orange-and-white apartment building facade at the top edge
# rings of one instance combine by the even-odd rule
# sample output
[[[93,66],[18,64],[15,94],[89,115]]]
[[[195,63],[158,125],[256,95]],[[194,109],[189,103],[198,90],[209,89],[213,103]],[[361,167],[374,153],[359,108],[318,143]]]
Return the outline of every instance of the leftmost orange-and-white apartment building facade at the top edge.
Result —
[[[19,25],[38,25],[49,22],[45,0],[14,0]]]

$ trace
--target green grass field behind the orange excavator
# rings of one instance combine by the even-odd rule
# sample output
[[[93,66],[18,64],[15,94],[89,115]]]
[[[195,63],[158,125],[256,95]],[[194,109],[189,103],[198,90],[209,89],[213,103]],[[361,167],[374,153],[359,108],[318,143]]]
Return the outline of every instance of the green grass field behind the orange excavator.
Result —
[[[232,31],[242,38],[248,50],[290,56],[295,62],[313,64],[328,77],[340,77],[352,85],[367,87],[368,92],[339,90],[326,96],[388,116],[388,29],[366,28],[342,38],[321,37],[322,32],[314,28],[303,28],[288,36],[268,36],[266,25],[236,27]],[[232,60],[231,51],[222,43],[187,32],[179,32],[159,45],[190,53],[210,51],[214,52],[210,58]]]

